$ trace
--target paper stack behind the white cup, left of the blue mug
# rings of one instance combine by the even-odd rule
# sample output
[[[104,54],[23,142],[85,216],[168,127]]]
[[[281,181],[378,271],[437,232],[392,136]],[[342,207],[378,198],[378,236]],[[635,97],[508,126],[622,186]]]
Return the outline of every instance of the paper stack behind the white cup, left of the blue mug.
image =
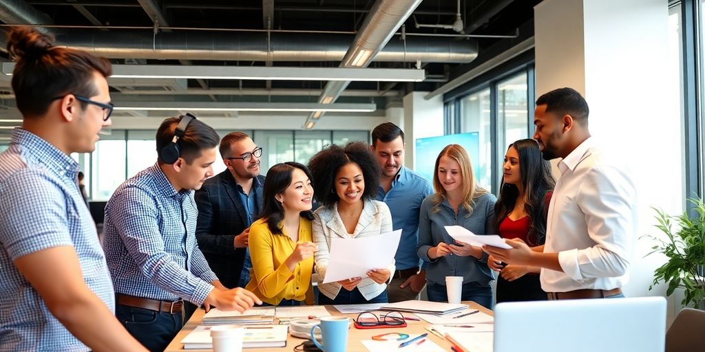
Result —
[[[183,349],[213,348],[211,327],[199,325],[181,340]],[[258,325],[245,327],[243,348],[284,347],[286,346],[287,325]]]

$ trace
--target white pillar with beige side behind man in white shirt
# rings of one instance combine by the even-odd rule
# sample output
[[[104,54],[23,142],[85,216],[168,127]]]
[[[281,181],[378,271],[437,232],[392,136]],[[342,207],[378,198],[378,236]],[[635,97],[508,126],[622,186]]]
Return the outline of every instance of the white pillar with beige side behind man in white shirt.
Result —
[[[544,0],[535,8],[534,23],[537,96],[559,87],[584,94],[592,135],[635,172],[638,233],[657,234],[650,207],[680,213],[683,204],[667,1]],[[663,257],[644,258],[650,246],[644,239],[637,244],[627,296],[665,296],[663,286],[649,291],[654,268],[663,263]]]

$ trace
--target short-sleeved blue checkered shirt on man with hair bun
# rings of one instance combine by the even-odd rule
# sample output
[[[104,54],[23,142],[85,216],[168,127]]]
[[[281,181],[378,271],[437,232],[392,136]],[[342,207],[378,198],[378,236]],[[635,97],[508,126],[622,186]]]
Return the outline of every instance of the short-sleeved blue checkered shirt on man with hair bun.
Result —
[[[14,260],[27,254],[72,246],[85,283],[114,310],[113,284],[78,190],[78,170],[72,158],[20,128],[0,154],[0,351],[89,351],[15,267]]]

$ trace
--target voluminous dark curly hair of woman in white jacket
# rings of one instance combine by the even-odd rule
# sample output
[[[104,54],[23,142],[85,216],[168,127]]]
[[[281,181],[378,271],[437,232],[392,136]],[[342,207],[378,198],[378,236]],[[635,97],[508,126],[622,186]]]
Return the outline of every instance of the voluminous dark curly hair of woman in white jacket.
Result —
[[[356,163],[362,170],[364,179],[362,199],[376,197],[379,192],[381,170],[374,154],[369,150],[369,144],[350,142],[345,145],[345,148],[331,144],[312,156],[308,165],[313,176],[314,196],[321,205],[333,206],[340,200],[336,193],[336,175],[338,170],[349,163]]]

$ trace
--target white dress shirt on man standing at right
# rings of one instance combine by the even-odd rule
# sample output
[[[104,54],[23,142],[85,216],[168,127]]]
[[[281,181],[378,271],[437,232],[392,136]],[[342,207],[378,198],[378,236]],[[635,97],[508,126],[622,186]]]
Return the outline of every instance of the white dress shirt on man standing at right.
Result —
[[[541,270],[546,292],[615,289],[627,280],[637,239],[637,191],[624,163],[588,138],[558,163],[544,252],[564,272]]]

